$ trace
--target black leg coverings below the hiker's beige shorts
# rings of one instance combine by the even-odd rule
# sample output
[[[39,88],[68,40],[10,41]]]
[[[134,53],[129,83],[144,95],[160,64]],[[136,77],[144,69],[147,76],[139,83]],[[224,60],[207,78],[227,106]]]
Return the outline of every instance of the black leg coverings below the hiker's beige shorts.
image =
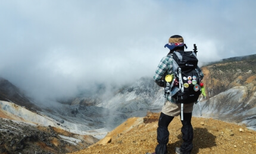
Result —
[[[157,128],[157,142],[158,145],[155,147],[155,153],[166,154],[167,153],[167,143],[169,142],[169,131],[168,125],[171,123],[174,117],[166,115],[164,113],[160,114]],[[182,153],[191,153],[193,149],[193,127],[191,125],[192,113],[183,113],[182,120],[182,139],[183,143],[180,146]]]

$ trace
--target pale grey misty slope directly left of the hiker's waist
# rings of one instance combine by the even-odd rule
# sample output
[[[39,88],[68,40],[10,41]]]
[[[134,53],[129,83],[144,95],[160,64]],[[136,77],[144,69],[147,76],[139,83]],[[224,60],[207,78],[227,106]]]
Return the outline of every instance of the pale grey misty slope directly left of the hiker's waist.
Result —
[[[131,113],[133,116],[145,116],[148,110],[160,109],[163,104],[161,93],[162,89],[155,84],[152,78],[141,78],[97,106],[112,108],[122,113]]]

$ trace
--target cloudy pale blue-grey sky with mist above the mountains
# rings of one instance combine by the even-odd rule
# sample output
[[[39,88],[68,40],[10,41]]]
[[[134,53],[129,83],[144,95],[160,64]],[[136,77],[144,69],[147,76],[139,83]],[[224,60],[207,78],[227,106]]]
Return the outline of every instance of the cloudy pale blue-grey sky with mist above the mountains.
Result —
[[[0,76],[30,95],[153,76],[175,34],[199,65],[255,54],[256,1],[3,1]],[[79,88],[78,88],[79,87]],[[39,95],[40,94],[40,95]]]

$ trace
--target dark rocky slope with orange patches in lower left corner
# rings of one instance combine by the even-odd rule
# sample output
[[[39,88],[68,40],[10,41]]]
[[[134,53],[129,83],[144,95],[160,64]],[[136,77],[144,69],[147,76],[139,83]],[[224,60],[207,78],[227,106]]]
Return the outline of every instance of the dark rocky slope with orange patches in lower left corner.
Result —
[[[70,133],[0,118],[0,153],[68,153],[97,142],[92,136]]]

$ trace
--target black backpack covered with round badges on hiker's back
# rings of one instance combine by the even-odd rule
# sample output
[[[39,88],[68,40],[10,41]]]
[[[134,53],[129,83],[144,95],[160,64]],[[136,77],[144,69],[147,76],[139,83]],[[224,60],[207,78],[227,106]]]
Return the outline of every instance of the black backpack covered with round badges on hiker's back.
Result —
[[[201,94],[201,76],[198,72],[198,59],[195,52],[173,52],[173,81],[171,97],[177,103],[189,104],[198,101]]]

